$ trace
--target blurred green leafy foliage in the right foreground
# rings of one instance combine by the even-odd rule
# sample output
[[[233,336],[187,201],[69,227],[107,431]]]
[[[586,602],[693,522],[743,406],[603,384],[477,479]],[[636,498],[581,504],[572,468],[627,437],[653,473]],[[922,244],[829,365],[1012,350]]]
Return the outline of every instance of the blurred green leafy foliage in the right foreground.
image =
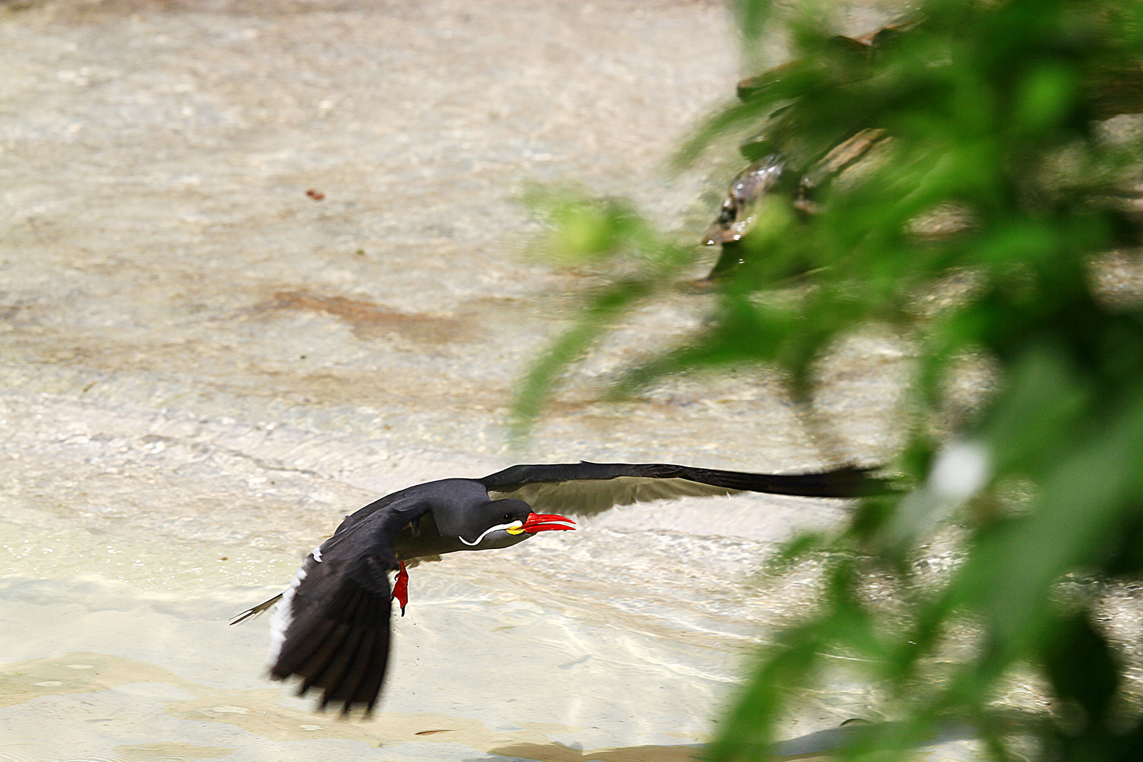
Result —
[[[1141,760],[1138,687],[1125,692],[1122,655],[1090,591],[1143,571],[1143,307],[1093,286],[1102,255],[1140,244],[1128,196],[1143,143],[1109,135],[1105,120],[1143,112],[1143,6],[925,0],[869,46],[829,33],[815,3],[776,13],[765,0],[740,3],[748,39],[789,26],[794,59],[744,83],[742,101],[713,114],[679,161],[716,138],[754,135],[744,153],[777,154],[792,176],[814,177],[862,130],[885,137],[850,169],[765,198],[737,244],[742,264],[717,280],[709,328],[631,368],[616,393],[761,363],[805,399],[831,345],[889,326],[917,351],[913,419],[894,465],[918,487],[863,502],[836,537],[790,546],[777,566],[825,559],[821,605],[760,653],[710,755],[765,757],[793,689],[821,679],[824,652],[842,651],[865,660],[865,679],[889,696],[885,711],[902,720],[855,730],[845,759],[908,759],[957,717],[998,757],[1020,730],[1047,760]],[[628,207],[577,203],[554,239],[581,256],[626,257],[625,275],[534,367],[521,420],[539,412],[567,363],[696,256]],[[922,296],[953,276],[967,292],[924,308]],[[952,443],[938,442],[932,423],[967,355],[989,359],[999,383]],[[1013,484],[1028,499],[1015,500]],[[962,563],[911,588],[911,554],[950,516],[964,529]],[[912,591],[890,628],[863,593],[870,568]],[[1098,584],[1062,586],[1077,575]],[[938,666],[965,621],[972,656]],[[1056,709],[1018,728],[997,704],[1017,674],[1044,685]]]

